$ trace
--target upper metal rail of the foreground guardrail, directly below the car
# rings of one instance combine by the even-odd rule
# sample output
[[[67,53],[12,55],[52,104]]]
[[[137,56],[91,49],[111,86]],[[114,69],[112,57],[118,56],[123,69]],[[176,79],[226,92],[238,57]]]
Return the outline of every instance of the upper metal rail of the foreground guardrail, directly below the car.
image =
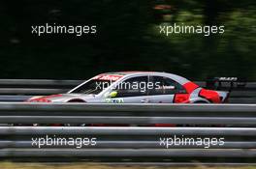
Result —
[[[0,123],[256,125],[256,104],[0,102]]]

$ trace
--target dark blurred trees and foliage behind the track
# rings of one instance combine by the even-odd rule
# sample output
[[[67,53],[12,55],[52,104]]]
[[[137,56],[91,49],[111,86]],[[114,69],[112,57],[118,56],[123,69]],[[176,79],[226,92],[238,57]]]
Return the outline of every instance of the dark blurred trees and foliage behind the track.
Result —
[[[255,0],[0,2],[0,78],[86,79],[158,70],[193,80],[256,80]],[[97,25],[96,35],[31,34],[32,25]],[[224,34],[159,34],[160,24],[224,25]]]

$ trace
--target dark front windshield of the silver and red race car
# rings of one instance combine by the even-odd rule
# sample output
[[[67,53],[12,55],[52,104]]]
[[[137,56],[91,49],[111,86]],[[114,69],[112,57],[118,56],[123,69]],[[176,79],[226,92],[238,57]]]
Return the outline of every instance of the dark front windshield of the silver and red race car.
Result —
[[[99,80],[91,79],[81,85],[76,90],[72,91],[71,94],[93,94],[97,95],[104,89],[108,88],[112,84],[111,80]]]

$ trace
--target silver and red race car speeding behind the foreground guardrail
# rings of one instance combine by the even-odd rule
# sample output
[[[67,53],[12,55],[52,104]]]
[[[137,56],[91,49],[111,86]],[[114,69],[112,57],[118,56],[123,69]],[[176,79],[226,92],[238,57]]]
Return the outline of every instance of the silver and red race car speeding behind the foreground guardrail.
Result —
[[[118,71],[96,75],[66,94],[29,102],[221,103],[229,92],[208,90],[179,75],[157,71]]]

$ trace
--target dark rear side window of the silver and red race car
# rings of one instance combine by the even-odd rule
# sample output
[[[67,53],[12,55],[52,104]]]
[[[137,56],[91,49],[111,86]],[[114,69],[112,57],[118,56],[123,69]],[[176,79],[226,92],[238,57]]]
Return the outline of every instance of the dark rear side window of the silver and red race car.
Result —
[[[174,95],[186,93],[182,85],[164,76],[151,76],[154,87],[148,90],[148,95]]]

